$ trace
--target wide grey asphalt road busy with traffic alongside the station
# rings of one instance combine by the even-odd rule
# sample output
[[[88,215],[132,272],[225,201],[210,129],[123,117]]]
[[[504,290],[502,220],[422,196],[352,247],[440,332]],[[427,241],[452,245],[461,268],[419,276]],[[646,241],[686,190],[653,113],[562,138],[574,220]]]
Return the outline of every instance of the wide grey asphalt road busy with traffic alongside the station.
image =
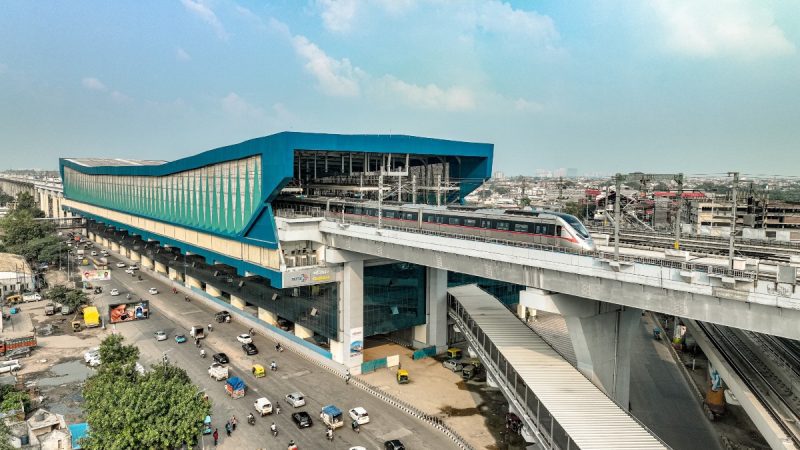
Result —
[[[120,260],[118,255],[109,257],[109,264],[113,267]],[[129,261],[123,260],[128,263]],[[259,354],[246,356],[241,345],[236,341],[236,336],[247,332],[243,324],[235,321],[227,324],[213,322],[214,329],[207,333],[202,346],[206,349],[207,357],[200,358],[199,350],[195,347],[188,328],[192,325],[207,325],[213,320],[216,312],[207,306],[200,298],[195,298],[187,303],[183,295],[175,295],[165,283],[161,275],[150,271],[142,271],[143,280],[126,274],[123,269],[114,267],[111,271],[112,280],[98,282],[103,286],[103,294],[97,295],[95,304],[107,317],[107,306],[111,303],[122,303],[125,295],[131,294],[131,300],[143,298],[150,300],[150,318],[136,322],[126,322],[111,326],[116,332],[125,336],[128,343],[136,344],[140,351],[140,361],[145,367],[158,363],[162,355],[166,354],[169,361],[184,368],[192,380],[208,393],[212,400],[213,423],[219,429],[219,448],[275,448],[285,449],[289,439],[294,439],[301,449],[348,449],[351,446],[364,446],[369,449],[382,449],[383,442],[388,439],[401,439],[408,449],[446,449],[456,448],[454,443],[443,434],[429,428],[423,422],[408,416],[381,400],[363,392],[362,390],[345,385],[341,378],[329,373],[327,370],[306,361],[290,351],[277,353],[275,343],[264,335],[254,337],[254,344],[259,349]],[[160,293],[149,295],[147,290],[157,288]],[[120,290],[120,296],[112,297],[109,292],[112,288]],[[166,341],[157,342],[153,333],[164,330],[169,334]],[[177,344],[173,337],[175,334],[186,334],[189,342]],[[241,377],[248,386],[247,395],[233,400],[224,390],[224,381],[217,382],[208,376],[208,366],[211,364],[211,355],[225,352],[231,359],[231,375]],[[250,368],[254,363],[265,367],[275,360],[278,371],[267,370],[265,378],[256,379],[252,376]],[[308,412],[314,425],[311,428],[299,430],[291,420],[291,413],[295,408],[289,406],[284,396],[290,392],[301,391],[305,394],[306,406],[297,408]],[[256,398],[267,397],[273,405],[280,400],[281,414],[259,417],[256,414],[256,425],[247,424],[247,414],[255,413],[253,402]],[[335,432],[333,442],[325,439],[325,426],[319,418],[319,411],[327,404],[337,405],[345,414],[345,426]],[[350,429],[350,418],[347,411],[355,406],[363,406],[370,414],[370,423],[361,426],[361,432],[355,433]],[[225,436],[225,421],[236,416],[239,425],[231,437]],[[273,438],[269,426],[275,422],[278,427],[278,438]],[[212,448],[211,436],[205,436],[202,448]]]

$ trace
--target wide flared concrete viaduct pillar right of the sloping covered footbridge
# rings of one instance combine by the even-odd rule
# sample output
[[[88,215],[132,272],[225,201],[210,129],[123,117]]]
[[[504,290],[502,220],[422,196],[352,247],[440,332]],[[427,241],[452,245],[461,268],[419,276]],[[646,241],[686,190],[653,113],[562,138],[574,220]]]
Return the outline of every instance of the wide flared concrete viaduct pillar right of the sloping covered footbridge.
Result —
[[[631,338],[641,310],[532,288],[520,292],[520,303],[564,316],[578,370],[628,409]]]

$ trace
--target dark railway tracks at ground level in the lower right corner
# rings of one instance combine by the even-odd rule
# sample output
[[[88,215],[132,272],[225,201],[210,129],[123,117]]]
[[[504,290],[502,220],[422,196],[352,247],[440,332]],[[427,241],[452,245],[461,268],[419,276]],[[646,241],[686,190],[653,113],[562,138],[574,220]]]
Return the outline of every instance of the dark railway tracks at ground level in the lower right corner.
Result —
[[[698,325],[795,447],[800,448],[800,397],[792,392],[792,387],[745,342],[747,337],[740,330],[702,322]]]

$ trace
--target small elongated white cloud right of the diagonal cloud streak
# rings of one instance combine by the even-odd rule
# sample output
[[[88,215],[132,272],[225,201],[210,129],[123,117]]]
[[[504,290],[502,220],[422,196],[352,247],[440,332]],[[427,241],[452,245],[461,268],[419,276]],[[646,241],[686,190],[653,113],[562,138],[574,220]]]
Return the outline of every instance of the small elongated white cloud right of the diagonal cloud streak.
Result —
[[[475,95],[463,87],[442,89],[435,84],[419,86],[387,75],[377,84],[381,95],[419,109],[466,111],[475,108]]]

